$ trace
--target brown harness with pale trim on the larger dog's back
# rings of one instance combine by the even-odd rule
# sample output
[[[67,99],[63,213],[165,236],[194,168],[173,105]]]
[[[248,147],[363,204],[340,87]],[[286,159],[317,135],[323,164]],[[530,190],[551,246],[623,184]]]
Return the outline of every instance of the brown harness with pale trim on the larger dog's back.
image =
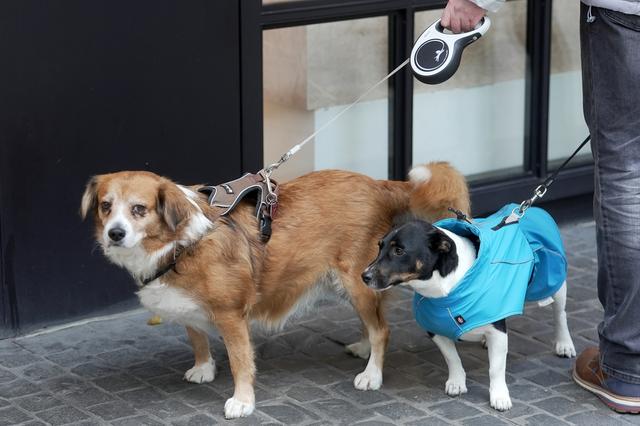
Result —
[[[203,186],[199,192],[206,194],[209,205],[222,209],[220,216],[230,213],[245,197],[252,195],[256,199],[256,218],[259,222],[262,241],[271,238],[271,221],[278,207],[278,184],[269,175],[260,170],[215,186]]]

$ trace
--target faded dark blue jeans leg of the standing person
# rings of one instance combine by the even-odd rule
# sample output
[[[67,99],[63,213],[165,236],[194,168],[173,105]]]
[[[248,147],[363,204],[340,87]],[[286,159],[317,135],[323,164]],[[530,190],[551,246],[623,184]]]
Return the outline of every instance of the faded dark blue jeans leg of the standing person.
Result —
[[[595,161],[600,362],[640,384],[640,16],[593,7],[580,34],[584,115]]]

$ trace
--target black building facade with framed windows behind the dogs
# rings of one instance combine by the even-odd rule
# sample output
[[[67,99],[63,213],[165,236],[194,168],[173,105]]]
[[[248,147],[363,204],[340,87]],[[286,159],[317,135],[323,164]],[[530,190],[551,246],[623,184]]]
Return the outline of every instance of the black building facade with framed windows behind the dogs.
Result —
[[[256,171],[409,55],[431,0],[0,5],[0,338],[124,309],[135,287],[77,214],[93,174]],[[446,83],[403,69],[278,171],[403,179],[447,160],[474,209],[528,197],[586,134],[577,0],[513,0]],[[548,199],[592,190],[588,153]]]

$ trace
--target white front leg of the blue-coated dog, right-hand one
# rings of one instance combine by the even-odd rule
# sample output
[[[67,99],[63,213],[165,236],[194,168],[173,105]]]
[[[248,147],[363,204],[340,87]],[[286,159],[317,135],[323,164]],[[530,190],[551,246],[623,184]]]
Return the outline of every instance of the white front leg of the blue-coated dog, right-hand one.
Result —
[[[489,399],[491,406],[499,411],[506,411],[512,407],[509,388],[505,378],[507,368],[507,333],[496,328],[486,331],[489,349]]]

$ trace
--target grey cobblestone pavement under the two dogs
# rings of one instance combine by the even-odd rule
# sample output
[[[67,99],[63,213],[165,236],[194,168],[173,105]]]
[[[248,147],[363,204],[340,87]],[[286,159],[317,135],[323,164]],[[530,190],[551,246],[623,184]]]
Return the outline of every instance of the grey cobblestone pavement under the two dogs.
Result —
[[[578,351],[596,341],[602,311],[596,299],[592,222],[562,227],[570,263],[569,326]],[[486,351],[462,344],[469,392],[444,393],[439,351],[414,323],[407,291],[396,289],[387,318],[390,348],[379,391],[353,388],[365,361],[344,353],[359,338],[352,309],[323,303],[283,332],[254,333],[258,379],[253,416],[234,424],[640,424],[573,384],[572,361],[552,354],[551,307],[527,309],[507,322],[507,381],[514,407],[489,407]],[[222,416],[232,380],[226,352],[212,335],[218,375],[184,382],[192,366],[181,327],[146,325],[147,313],[96,321],[35,337],[0,341],[0,425],[204,425]]]

